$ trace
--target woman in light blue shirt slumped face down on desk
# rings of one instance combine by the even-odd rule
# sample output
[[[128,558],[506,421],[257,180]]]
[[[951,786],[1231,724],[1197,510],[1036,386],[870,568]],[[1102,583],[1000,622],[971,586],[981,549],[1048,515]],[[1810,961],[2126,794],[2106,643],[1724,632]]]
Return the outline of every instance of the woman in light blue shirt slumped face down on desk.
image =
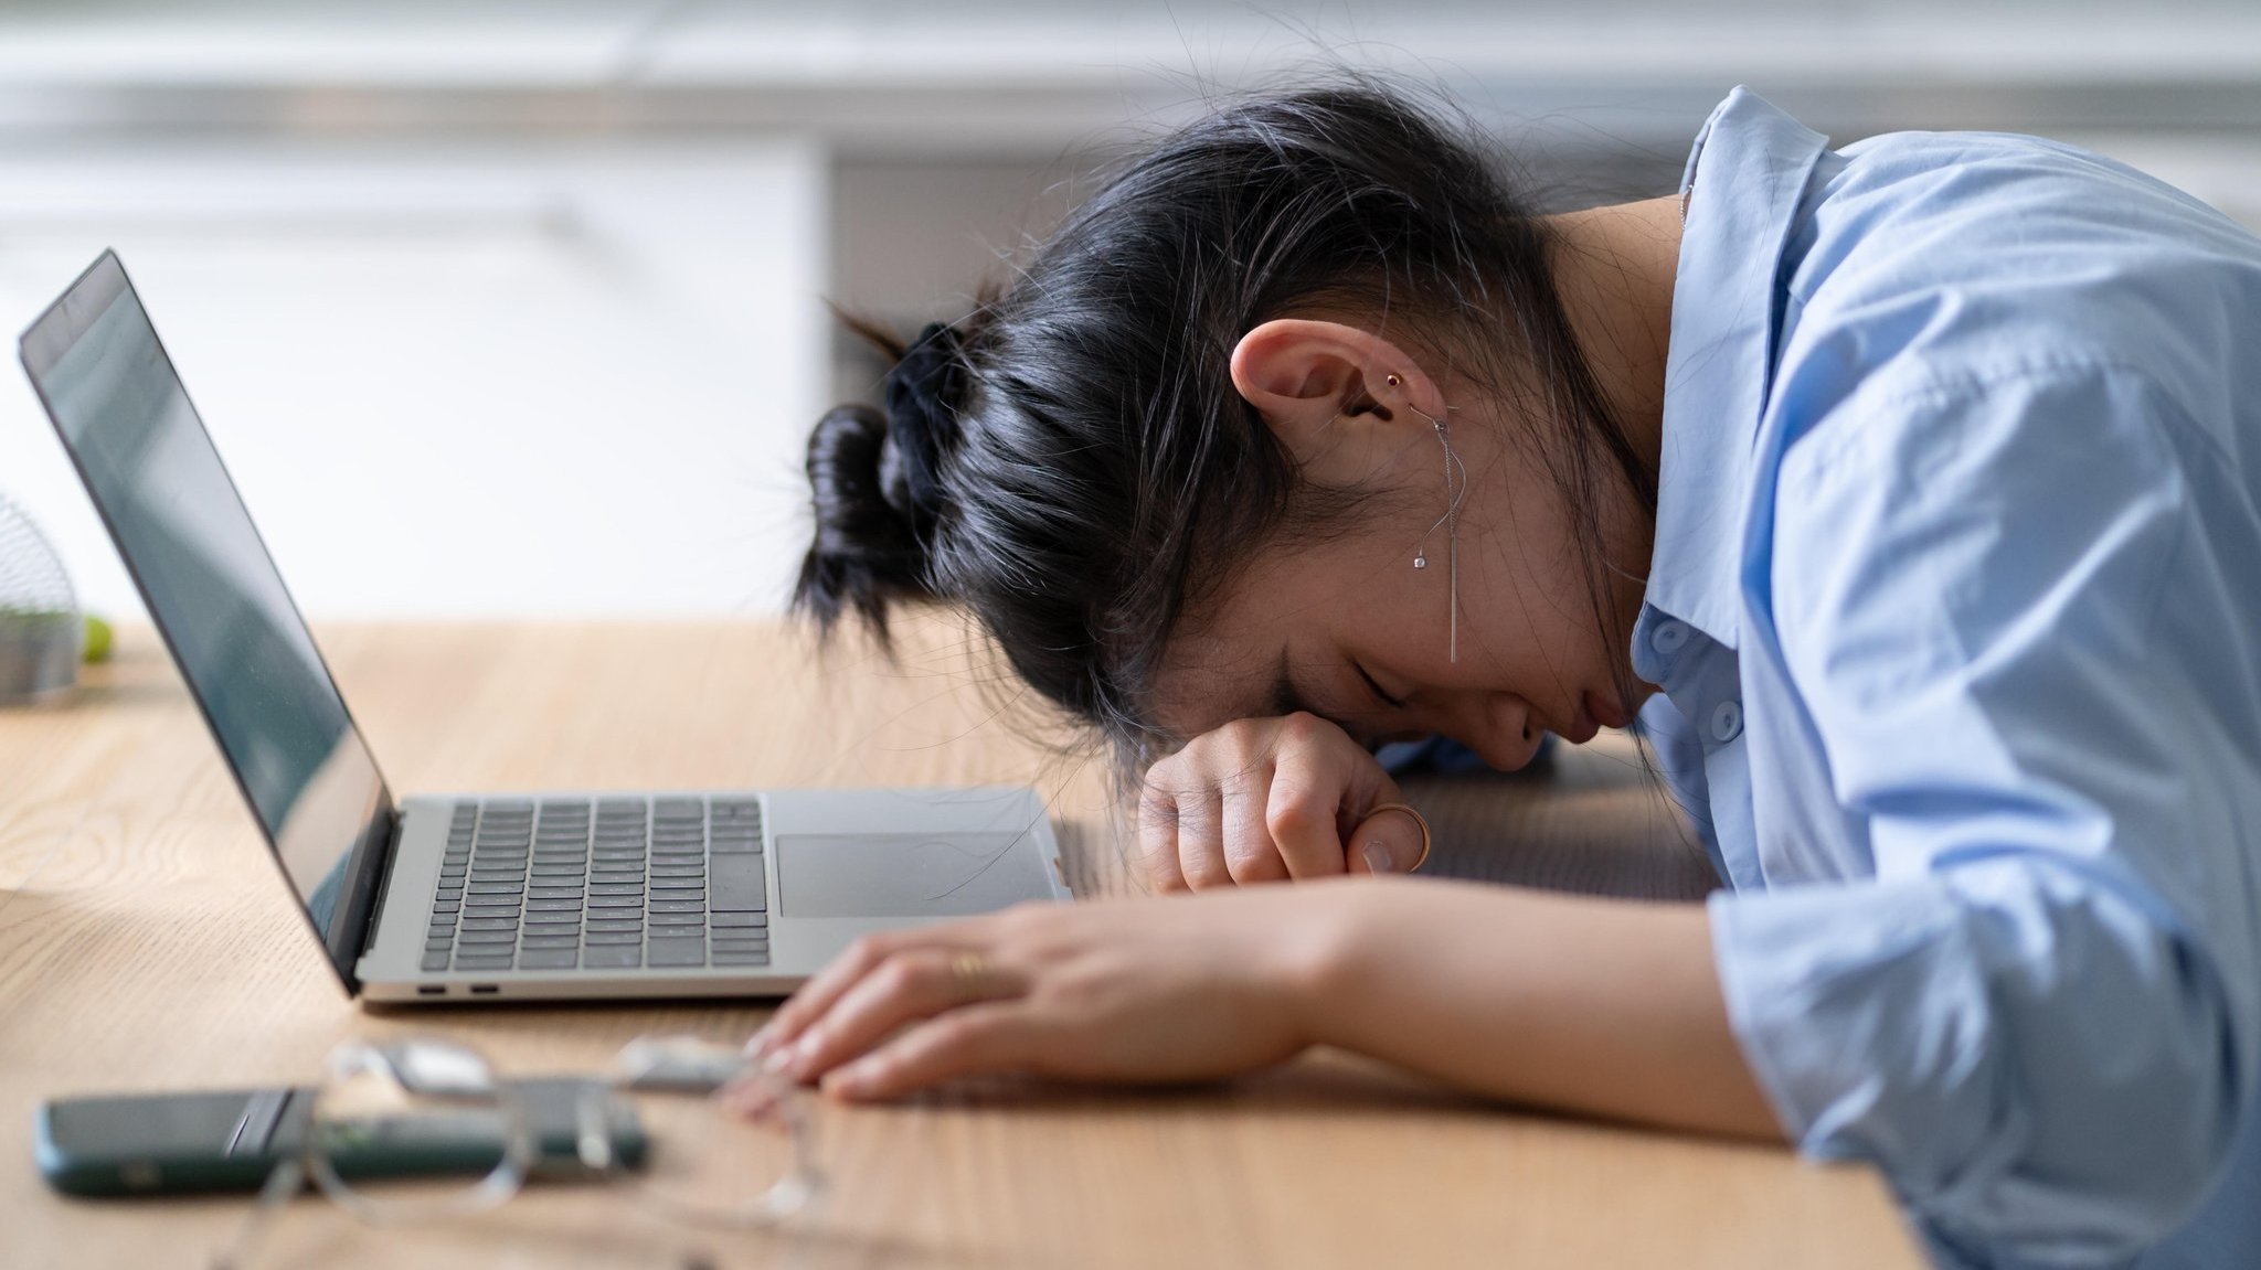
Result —
[[[798,590],[970,610],[1198,895],[868,940],[760,1044],[1334,1044],[1872,1159],[1949,1265],[2256,1265],[2256,337],[2252,235],[2046,140],[1736,90],[1680,197],[1535,217],[1388,93],[1225,108],[818,425]],[[1635,719],[1709,904],[1379,877],[1377,743]]]

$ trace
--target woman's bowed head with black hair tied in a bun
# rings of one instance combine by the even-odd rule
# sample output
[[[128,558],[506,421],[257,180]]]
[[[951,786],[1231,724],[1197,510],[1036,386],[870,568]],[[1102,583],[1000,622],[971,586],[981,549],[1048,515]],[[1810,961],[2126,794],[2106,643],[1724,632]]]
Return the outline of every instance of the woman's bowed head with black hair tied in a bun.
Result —
[[[1445,511],[1436,416],[1479,497],[1461,522],[1463,658],[1436,673],[1467,682],[1420,687],[1501,689],[1485,676],[1515,662],[1608,691],[1594,673],[1623,669],[1565,644],[1619,635],[1594,508],[1653,504],[1653,472],[1571,337],[1551,251],[1485,156],[1397,95],[1228,106],[1128,163],[1011,287],[898,350],[884,411],[818,423],[796,608],[884,635],[895,601],[963,606],[1020,678],[1135,762],[1212,714],[1282,705],[1282,653],[1366,669],[1354,649],[1296,646],[1345,579],[1370,572],[1393,610],[1395,635],[1361,640],[1411,642],[1431,608],[1445,651],[1443,569],[1406,567]],[[1485,508],[1499,490],[1544,513]],[[1445,560],[1443,531],[1424,547]],[[1551,617],[1485,630],[1506,601],[1472,590]],[[1574,719],[1576,701],[1517,694],[1526,725]]]

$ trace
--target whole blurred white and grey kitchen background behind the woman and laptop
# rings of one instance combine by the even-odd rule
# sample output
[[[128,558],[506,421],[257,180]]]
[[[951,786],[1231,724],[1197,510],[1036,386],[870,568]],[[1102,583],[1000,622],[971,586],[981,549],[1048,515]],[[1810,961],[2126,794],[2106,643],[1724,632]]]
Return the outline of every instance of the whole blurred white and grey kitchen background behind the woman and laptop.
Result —
[[[314,615],[771,610],[873,373],[821,296],[959,312],[1078,154],[1329,59],[1569,199],[1669,190],[1748,81],[2261,224],[2254,0],[9,0],[0,328],[118,246]],[[136,608],[14,371],[0,490]]]

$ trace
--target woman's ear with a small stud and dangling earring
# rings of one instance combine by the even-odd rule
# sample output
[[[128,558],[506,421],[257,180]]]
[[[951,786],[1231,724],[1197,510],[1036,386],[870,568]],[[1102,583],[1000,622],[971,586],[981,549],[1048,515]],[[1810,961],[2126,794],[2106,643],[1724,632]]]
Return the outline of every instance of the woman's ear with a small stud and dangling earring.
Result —
[[[1232,386],[1314,477],[1370,479],[1406,427],[1443,414],[1436,384],[1395,343],[1318,319],[1273,319],[1232,348]],[[1409,409],[1411,407],[1411,409]]]

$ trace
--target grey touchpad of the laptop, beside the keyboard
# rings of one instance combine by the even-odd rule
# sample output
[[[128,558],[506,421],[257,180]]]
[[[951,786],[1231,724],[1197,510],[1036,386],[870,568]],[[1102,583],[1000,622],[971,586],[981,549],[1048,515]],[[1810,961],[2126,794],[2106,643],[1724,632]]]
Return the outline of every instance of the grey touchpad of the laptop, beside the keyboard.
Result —
[[[1049,895],[1029,834],[778,834],[785,917],[950,917]]]

